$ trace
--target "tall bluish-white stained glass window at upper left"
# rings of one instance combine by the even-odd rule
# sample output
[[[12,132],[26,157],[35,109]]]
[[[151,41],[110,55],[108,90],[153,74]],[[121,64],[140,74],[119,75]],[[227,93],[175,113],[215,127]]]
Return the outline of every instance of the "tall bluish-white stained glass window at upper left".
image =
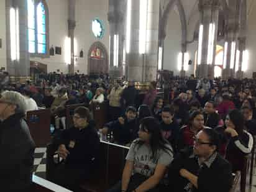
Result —
[[[47,53],[47,14],[40,0],[27,0],[29,53]]]

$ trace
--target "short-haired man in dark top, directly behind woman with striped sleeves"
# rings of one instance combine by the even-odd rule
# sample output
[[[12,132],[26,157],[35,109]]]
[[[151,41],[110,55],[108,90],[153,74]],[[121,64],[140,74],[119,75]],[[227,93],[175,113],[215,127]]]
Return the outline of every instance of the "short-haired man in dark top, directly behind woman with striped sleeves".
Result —
[[[216,105],[214,102],[206,102],[204,105],[204,126],[215,128],[217,126],[223,126],[223,124],[224,122],[216,112]]]

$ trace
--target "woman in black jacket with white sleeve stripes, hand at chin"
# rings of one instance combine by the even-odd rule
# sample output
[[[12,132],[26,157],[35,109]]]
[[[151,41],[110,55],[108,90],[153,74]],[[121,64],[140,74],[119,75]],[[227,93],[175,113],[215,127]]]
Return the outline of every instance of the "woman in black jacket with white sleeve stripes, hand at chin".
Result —
[[[216,127],[221,135],[222,155],[232,164],[233,171],[242,170],[244,156],[252,151],[254,138],[244,129],[244,116],[234,109],[226,116],[225,126]]]

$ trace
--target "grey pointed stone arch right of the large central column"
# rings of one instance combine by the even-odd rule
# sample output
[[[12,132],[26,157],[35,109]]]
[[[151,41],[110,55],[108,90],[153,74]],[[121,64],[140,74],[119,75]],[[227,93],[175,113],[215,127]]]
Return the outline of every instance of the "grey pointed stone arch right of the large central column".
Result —
[[[187,29],[186,29],[186,15],[185,15],[185,10],[183,7],[183,4],[181,3],[180,0],[170,0],[167,4],[167,7],[163,11],[163,16],[160,24],[160,39],[165,39],[166,37],[166,28],[167,28],[167,21],[169,19],[170,11],[173,9],[174,6],[178,7],[179,15],[180,15],[180,22],[181,22],[181,43],[185,44],[186,43],[186,34],[187,34]]]

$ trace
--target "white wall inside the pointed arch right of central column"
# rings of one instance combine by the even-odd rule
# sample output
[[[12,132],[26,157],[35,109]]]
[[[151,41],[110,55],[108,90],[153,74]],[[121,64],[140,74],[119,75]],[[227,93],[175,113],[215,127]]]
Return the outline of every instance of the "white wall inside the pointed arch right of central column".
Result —
[[[178,71],[178,53],[181,52],[181,23],[180,16],[171,10],[167,21],[167,36],[163,52],[163,69],[173,71],[174,75],[180,75]]]

